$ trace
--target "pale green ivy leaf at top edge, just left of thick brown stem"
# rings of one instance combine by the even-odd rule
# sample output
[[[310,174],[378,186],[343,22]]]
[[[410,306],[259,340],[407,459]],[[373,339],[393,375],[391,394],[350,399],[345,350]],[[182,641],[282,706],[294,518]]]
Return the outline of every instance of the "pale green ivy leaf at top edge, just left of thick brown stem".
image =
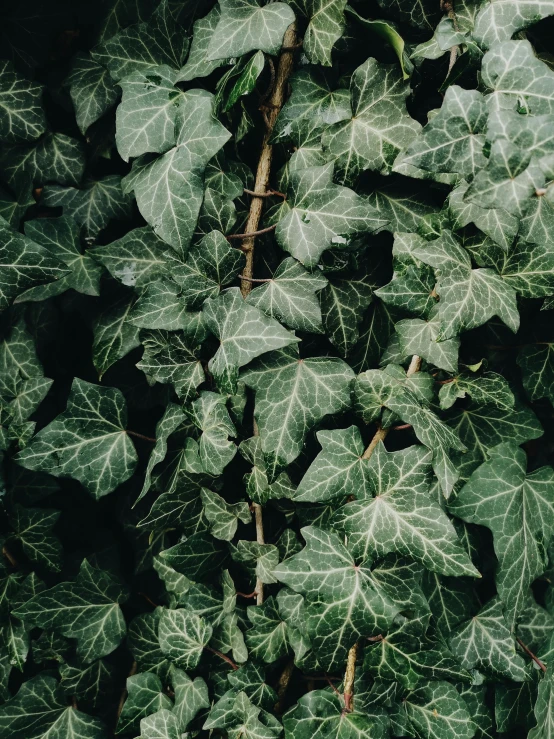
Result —
[[[260,49],[277,54],[294,21],[285,3],[260,7],[256,0],[220,0],[221,16],[208,47],[208,59],[227,59]]]

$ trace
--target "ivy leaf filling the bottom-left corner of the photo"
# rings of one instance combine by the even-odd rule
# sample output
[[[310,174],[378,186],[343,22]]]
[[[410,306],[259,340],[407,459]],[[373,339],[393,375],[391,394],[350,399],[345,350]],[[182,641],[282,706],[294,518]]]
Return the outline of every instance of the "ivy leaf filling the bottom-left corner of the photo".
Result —
[[[49,675],[27,680],[13,698],[0,706],[0,731],[13,739],[105,736],[102,722],[68,706],[63,691]]]

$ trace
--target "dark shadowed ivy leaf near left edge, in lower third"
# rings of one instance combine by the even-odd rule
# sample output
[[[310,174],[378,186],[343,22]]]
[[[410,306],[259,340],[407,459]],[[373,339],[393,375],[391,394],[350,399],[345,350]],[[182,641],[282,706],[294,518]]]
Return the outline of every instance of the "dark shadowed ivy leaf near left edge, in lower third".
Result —
[[[60,511],[19,505],[14,506],[10,516],[13,535],[21,542],[26,556],[53,572],[59,572],[63,562],[62,545],[52,533],[59,517]]]

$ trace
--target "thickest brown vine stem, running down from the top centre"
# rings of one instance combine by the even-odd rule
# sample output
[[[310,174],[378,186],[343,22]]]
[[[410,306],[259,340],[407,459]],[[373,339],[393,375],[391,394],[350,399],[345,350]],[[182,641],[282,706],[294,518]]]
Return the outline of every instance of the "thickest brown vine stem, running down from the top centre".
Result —
[[[258,160],[256,184],[253,188],[254,192],[266,192],[268,189],[269,175],[271,172],[271,159],[273,156],[273,147],[269,143],[269,138],[285,100],[287,80],[292,72],[294,49],[291,48],[289,50],[289,47],[295,47],[295,45],[296,26],[293,23],[288,27],[285,37],[283,38],[283,47],[286,50],[283,51],[279,57],[279,64],[275,75],[275,85],[273,87],[273,92],[269,97],[269,102],[265,106],[267,108],[267,130],[264,135],[262,150]],[[246,228],[244,229],[248,236],[244,239],[242,244],[243,251],[246,254],[246,265],[243,270],[243,275],[245,277],[252,278],[254,276],[254,242],[255,234],[258,232],[258,226],[262,216],[263,200],[263,198],[252,198],[252,202],[250,203],[248,220],[246,221]],[[251,282],[245,279],[241,280],[241,290],[244,297],[248,295],[251,289]]]

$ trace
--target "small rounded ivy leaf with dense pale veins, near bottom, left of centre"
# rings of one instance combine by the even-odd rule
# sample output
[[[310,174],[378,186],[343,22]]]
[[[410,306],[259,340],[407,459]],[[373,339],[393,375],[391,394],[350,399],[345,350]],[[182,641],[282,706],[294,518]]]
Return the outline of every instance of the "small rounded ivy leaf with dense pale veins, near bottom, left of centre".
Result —
[[[212,636],[212,627],[203,618],[183,609],[164,609],[160,616],[160,647],[177,667],[192,670]]]

